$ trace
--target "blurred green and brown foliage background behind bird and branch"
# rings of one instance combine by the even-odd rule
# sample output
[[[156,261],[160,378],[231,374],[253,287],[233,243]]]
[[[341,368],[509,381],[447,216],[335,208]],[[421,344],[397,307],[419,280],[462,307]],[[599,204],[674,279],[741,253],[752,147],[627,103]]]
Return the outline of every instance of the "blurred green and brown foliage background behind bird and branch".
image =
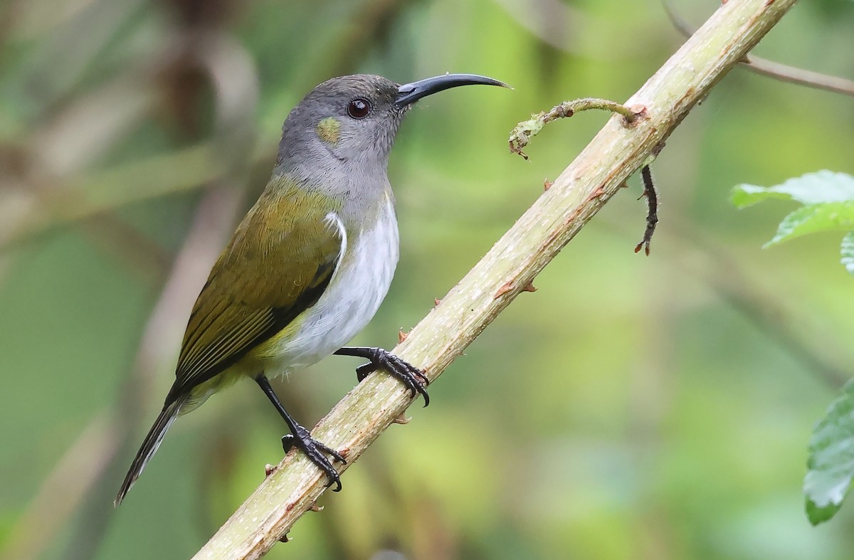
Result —
[[[714,0],[674,1],[694,26]],[[854,3],[798,4],[757,55],[854,76]],[[0,556],[190,557],[281,458],[250,383],[173,426],[112,499],[173,380],[209,266],[269,177],[284,117],[342,73],[483,73],[407,117],[389,166],[401,263],[356,342],[392,347],[681,43],[649,0],[0,3]],[[850,558],[811,528],[812,423],[854,364],[839,238],[761,250],[793,206],[734,184],[854,172],[851,97],[735,69],[637,178],[304,516],[272,558]],[[312,426],[354,384],[278,384]]]

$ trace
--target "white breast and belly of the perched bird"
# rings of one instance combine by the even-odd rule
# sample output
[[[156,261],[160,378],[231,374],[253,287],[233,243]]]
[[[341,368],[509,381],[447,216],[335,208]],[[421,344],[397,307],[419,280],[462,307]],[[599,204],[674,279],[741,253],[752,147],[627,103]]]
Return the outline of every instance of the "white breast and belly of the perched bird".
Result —
[[[335,213],[326,219],[342,236],[342,256],[329,287],[281,348],[285,369],[314,364],[347,344],[371,321],[395,275],[399,239],[390,196],[376,225],[358,236],[348,238]]]

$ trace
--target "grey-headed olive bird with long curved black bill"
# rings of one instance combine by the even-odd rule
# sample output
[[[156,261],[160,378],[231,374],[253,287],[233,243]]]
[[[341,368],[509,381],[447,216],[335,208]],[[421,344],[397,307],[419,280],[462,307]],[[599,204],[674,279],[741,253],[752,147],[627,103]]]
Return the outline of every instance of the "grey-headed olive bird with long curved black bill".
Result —
[[[269,377],[331,354],[368,362],[430,403],[424,372],[380,347],[344,346],[373,318],[399,257],[387,166],[401,120],[425,96],[461,85],[506,84],[446,73],[408,84],[355,74],[325,81],[290,111],[272,177],[237,226],[190,313],[175,382],[145,436],[118,506],[179,416],[238,379],[257,383],[301,449],[341,490],[341,453],[315,440],[284,409]],[[327,455],[329,457],[327,457]],[[330,459],[331,458],[331,459]]]

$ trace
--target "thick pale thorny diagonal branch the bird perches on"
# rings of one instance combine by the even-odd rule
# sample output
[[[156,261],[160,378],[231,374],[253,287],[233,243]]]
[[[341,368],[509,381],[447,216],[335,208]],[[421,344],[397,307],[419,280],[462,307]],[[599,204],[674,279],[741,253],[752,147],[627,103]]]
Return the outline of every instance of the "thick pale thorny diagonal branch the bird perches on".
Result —
[[[611,120],[516,225],[395,348],[435,380],[526,287],[652,155],[688,111],[744,58],[795,0],[723,4],[692,38],[625,103],[646,118]],[[354,464],[412,404],[407,390],[382,374],[350,391],[313,430]],[[290,452],[196,558],[258,558],[269,551],[325,491],[326,478]]]

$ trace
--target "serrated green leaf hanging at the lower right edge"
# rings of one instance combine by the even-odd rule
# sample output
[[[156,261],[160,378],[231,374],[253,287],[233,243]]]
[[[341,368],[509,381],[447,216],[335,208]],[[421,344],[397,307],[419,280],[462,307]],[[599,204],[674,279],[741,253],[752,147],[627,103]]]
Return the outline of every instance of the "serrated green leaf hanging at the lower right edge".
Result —
[[[816,424],[804,477],[806,515],[813,525],[826,522],[842,506],[854,477],[854,382],[847,382]]]

